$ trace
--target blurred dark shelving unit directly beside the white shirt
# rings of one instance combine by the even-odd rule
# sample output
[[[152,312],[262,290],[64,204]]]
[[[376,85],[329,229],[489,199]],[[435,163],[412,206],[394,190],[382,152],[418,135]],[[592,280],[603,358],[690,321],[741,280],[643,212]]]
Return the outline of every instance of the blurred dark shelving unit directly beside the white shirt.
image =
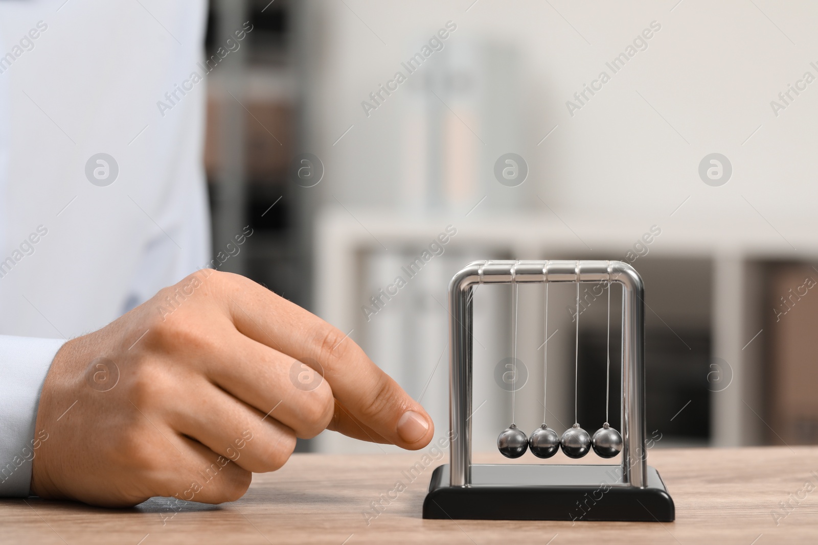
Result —
[[[303,304],[309,286],[299,274],[303,252],[287,183],[297,134],[293,11],[286,0],[213,2],[206,58],[237,29],[248,28],[246,21],[252,26],[240,47],[207,76],[205,170],[214,255],[244,226],[253,229],[224,270]]]

